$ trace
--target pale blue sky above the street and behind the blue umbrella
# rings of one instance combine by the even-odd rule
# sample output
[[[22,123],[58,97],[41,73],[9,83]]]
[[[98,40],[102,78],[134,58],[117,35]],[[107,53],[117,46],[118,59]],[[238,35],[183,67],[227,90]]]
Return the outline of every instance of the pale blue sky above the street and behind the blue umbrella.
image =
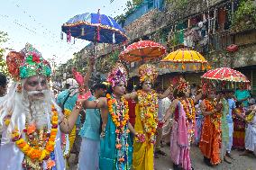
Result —
[[[87,40],[67,42],[61,25],[81,13],[104,13],[116,16],[124,13],[127,0],[3,0],[0,4],[0,31],[8,33],[4,44],[9,49],[23,49],[26,42],[41,51],[43,58],[58,64],[67,62],[73,53],[83,49]]]

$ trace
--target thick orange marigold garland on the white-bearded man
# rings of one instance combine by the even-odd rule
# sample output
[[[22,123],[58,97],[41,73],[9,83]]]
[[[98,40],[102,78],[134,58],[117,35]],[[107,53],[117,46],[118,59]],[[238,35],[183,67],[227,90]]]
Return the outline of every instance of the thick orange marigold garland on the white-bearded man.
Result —
[[[23,130],[23,132],[26,133],[29,142],[22,138],[22,134],[19,130],[14,130],[12,133],[12,140],[15,142],[16,146],[20,148],[21,151],[23,151],[25,157],[30,159],[29,162],[32,162],[33,164],[38,163],[37,165],[39,166],[41,166],[43,160],[50,159],[50,153],[54,150],[55,147],[55,139],[58,132],[58,112],[53,105],[51,106],[51,112],[51,130],[50,134],[48,133],[46,135],[49,136],[49,138],[44,148],[38,146],[40,142],[32,140],[32,133],[36,132],[36,127],[34,124],[27,126],[26,129]],[[47,139],[43,140],[46,141]],[[36,146],[32,147],[30,144],[35,144]]]

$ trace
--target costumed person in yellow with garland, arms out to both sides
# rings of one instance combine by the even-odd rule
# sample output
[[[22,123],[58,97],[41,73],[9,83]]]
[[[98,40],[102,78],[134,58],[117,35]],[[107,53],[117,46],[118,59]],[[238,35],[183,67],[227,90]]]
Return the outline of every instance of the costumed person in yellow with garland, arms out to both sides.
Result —
[[[137,101],[135,108],[134,129],[142,136],[145,136],[143,142],[134,139],[133,142],[133,169],[152,170],[153,152],[156,141],[156,132],[158,127],[158,98],[162,99],[169,95],[168,88],[164,94],[157,94],[151,89],[151,85],[156,80],[158,73],[156,67],[145,64],[139,67],[141,90],[132,94],[125,94],[126,99]]]

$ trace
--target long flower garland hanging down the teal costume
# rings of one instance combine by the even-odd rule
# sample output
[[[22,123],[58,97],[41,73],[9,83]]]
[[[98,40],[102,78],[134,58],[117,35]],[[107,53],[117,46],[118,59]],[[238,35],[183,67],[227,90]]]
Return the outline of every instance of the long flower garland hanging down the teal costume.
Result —
[[[110,95],[106,94],[108,111],[111,115],[112,121],[116,127],[115,134],[115,148],[117,149],[117,162],[116,166],[122,169],[123,164],[128,161],[128,120],[129,120],[129,108],[128,102],[121,97],[120,103],[117,103],[116,99]]]

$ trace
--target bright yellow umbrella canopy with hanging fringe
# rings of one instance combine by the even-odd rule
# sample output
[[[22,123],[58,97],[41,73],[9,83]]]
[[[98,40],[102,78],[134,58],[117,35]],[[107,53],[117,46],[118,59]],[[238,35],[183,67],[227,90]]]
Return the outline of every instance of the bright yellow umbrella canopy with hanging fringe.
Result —
[[[182,70],[190,67],[193,70],[209,69],[208,61],[199,52],[191,49],[178,49],[169,53],[169,55],[162,60],[161,67],[178,68],[178,63],[181,63]],[[193,65],[191,65],[193,64]]]

